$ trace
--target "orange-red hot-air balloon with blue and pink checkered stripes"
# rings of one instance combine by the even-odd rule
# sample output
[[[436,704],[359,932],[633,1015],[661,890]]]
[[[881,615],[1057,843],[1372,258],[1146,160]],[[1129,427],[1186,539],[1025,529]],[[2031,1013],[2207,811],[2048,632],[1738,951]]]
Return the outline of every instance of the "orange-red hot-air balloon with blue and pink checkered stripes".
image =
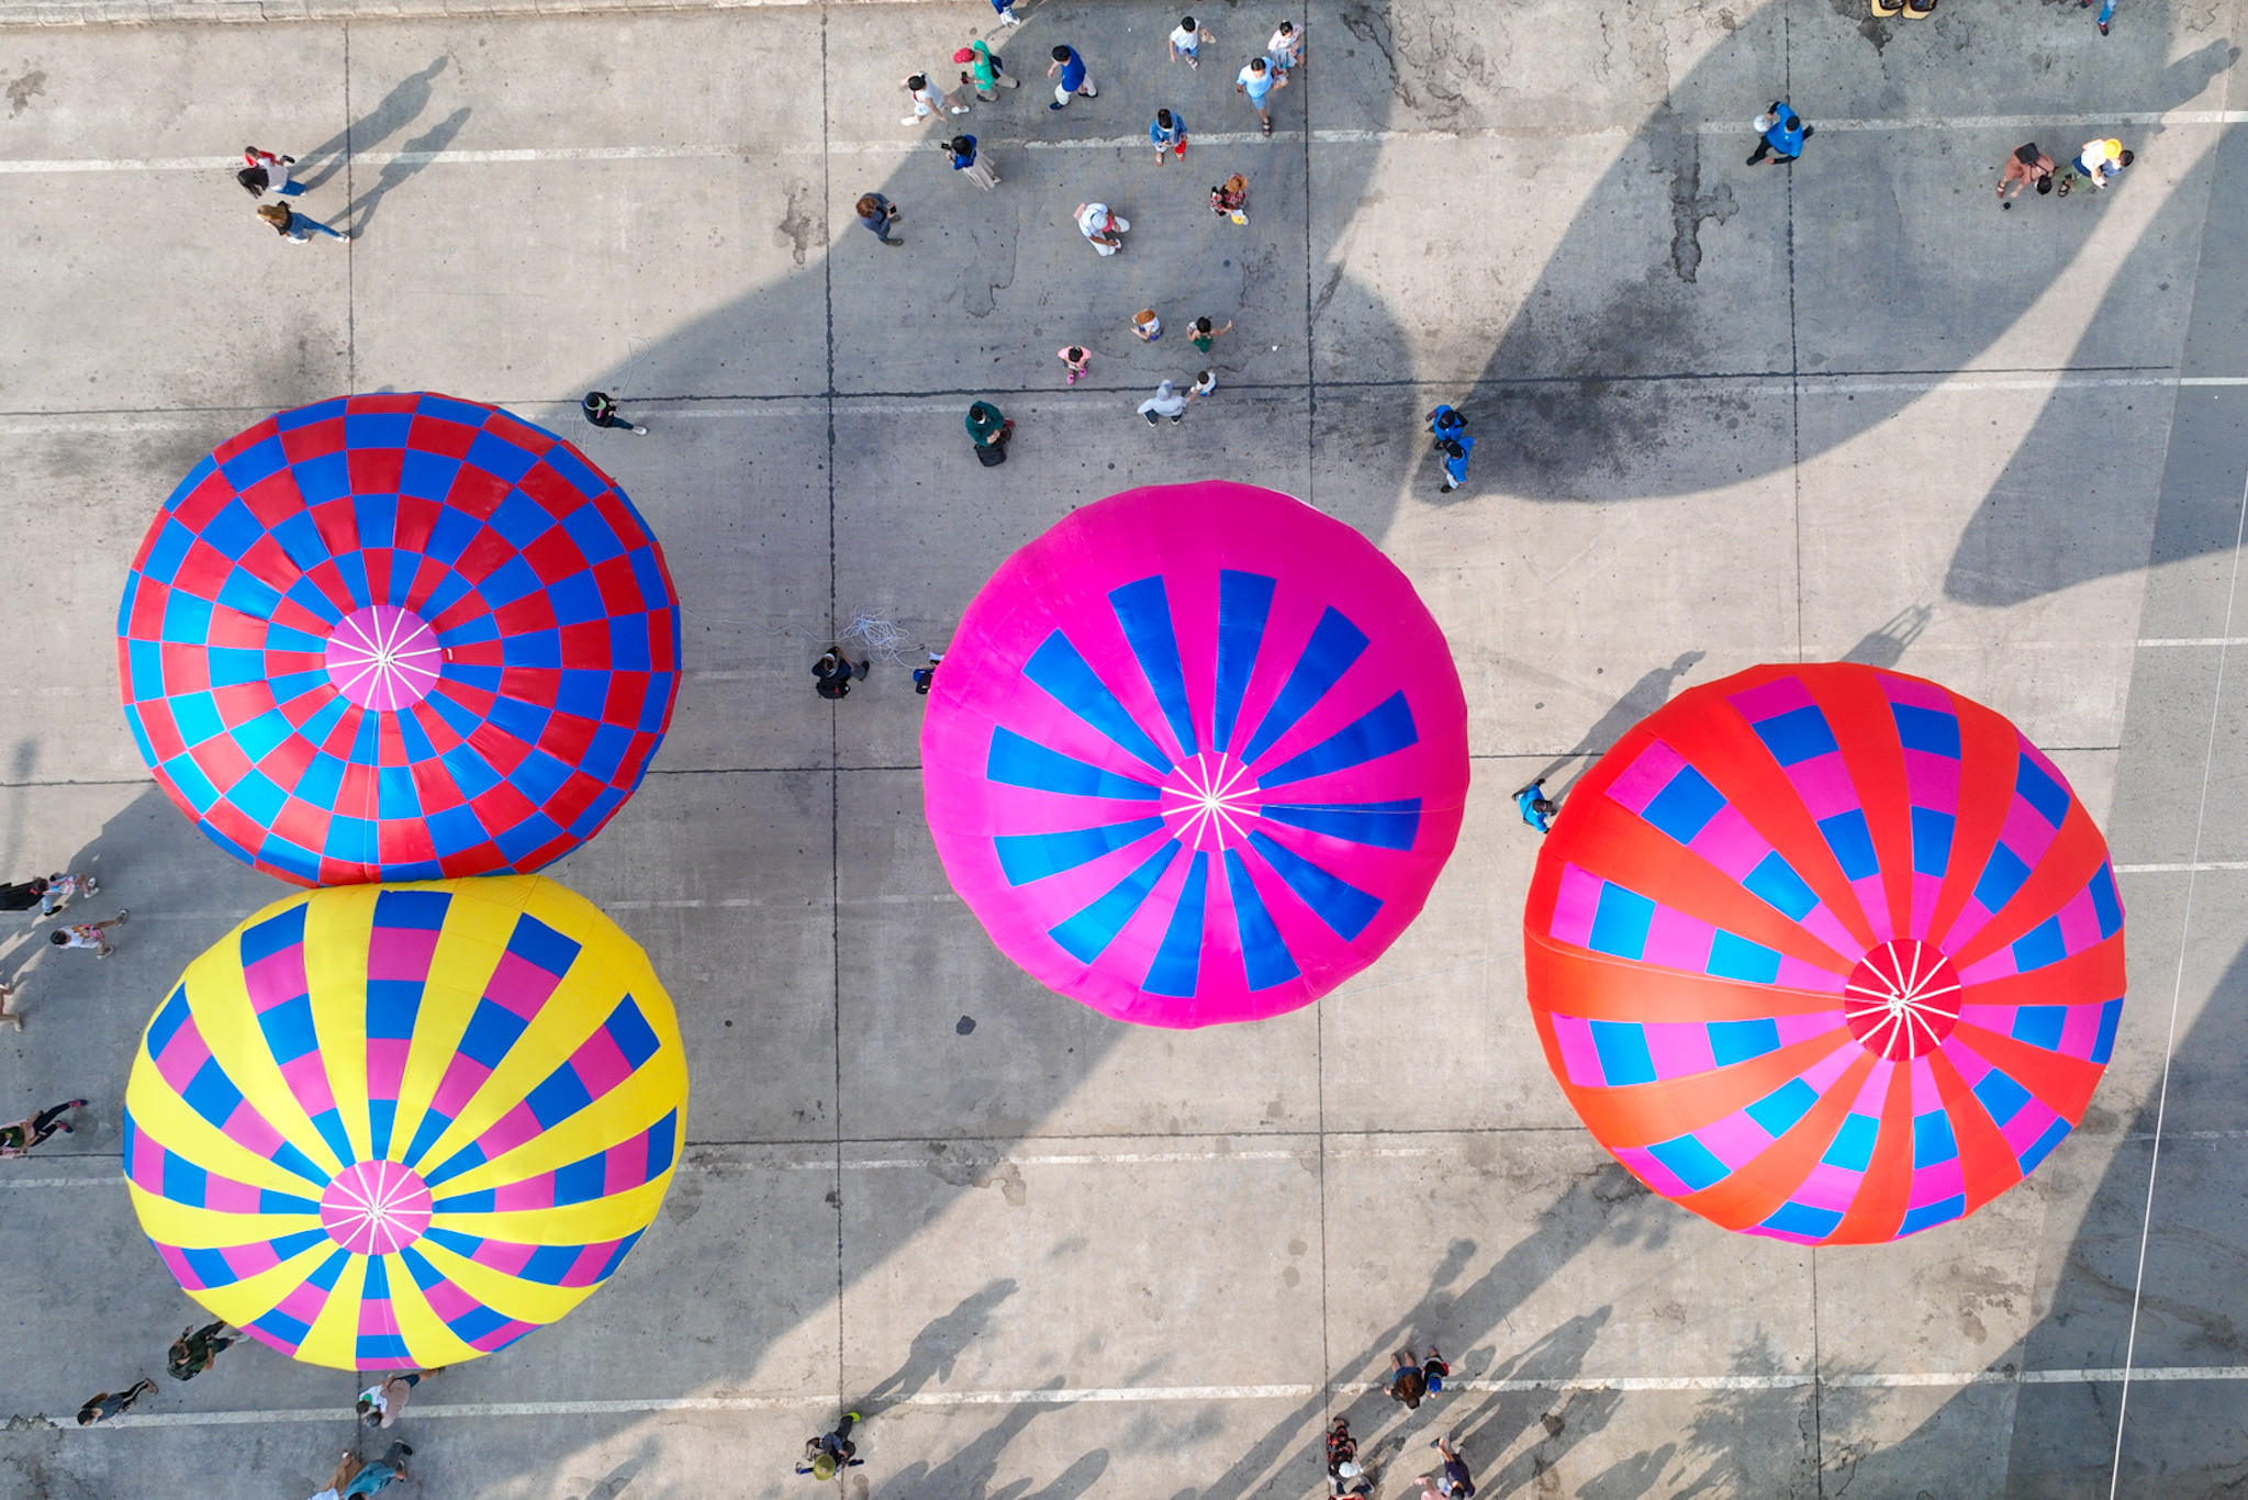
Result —
[[[1870,666],[1760,666],[1569,789],[1524,913],[1553,1077],[1729,1230],[1875,1244],[1971,1214],[2084,1115],[2122,902],[2005,717]]]

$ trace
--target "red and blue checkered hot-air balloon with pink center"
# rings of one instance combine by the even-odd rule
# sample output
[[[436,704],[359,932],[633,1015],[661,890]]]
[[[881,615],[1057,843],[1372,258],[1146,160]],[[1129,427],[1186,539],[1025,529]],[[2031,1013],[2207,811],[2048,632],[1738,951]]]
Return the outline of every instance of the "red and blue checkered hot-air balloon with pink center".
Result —
[[[157,785],[268,875],[531,873],[641,785],[679,596],[616,484],[450,396],[270,416],[189,472],[117,614]]]

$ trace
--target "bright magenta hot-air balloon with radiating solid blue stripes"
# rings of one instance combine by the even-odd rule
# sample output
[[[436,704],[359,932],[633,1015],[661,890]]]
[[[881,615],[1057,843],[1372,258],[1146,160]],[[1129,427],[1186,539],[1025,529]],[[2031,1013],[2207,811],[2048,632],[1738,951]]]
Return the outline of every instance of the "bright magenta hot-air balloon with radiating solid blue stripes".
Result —
[[[1281,1014],[1374,963],[1459,837],[1468,708],[1371,542],[1245,484],[1149,486],[1014,553],[922,726],[953,888],[1120,1021]]]

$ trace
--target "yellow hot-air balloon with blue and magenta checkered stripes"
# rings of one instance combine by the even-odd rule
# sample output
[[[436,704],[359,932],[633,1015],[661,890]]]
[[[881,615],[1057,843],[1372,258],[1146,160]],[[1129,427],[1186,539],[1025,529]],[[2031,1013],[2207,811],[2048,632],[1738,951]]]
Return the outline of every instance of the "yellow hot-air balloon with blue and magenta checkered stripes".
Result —
[[[142,1230],[191,1298],[335,1370],[553,1322],[654,1221],[686,1124],[647,956],[535,875],[277,902],[180,976],[126,1084]]]

